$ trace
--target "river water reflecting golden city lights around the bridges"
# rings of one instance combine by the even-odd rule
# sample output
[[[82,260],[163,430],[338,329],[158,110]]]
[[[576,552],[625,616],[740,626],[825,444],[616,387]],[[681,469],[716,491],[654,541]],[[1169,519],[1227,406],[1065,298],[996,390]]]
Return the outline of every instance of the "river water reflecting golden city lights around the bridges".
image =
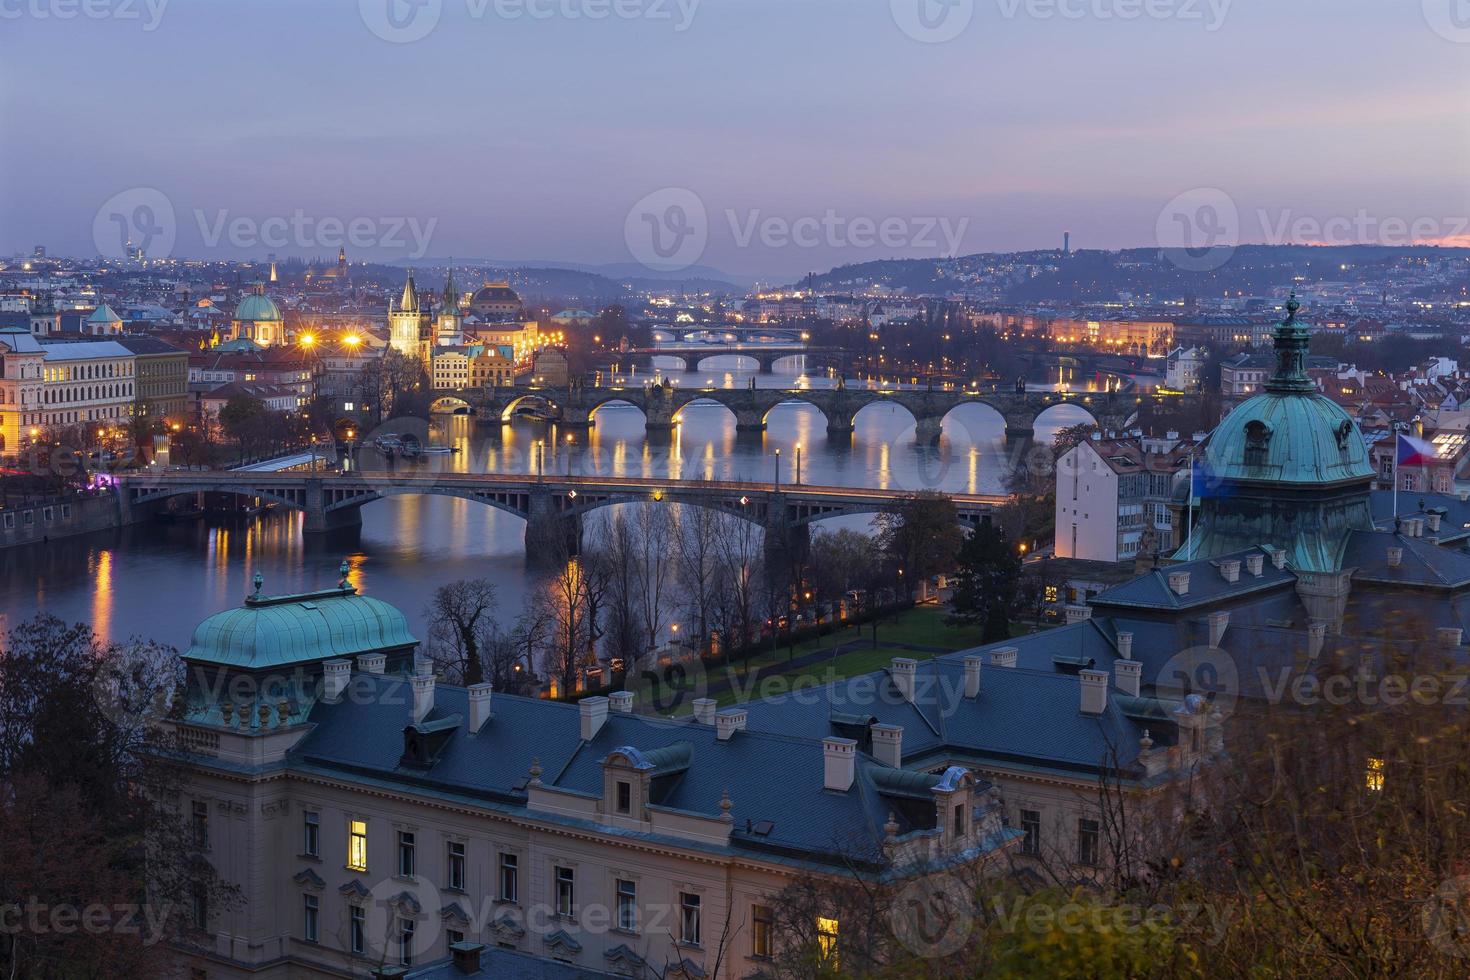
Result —
[[[725,366],[728,364],[728,366]],[[735,357],[710,361],[684,383],[745,386],[754,366]],[[672,375],[681,379],[681,373]],[[761,375],[763,388],[825,386],[831,381],[800,373],[782,361]],[[848,382],[850,385],[858,382]],[[1057,406],[1036,422],[1036,441],[1088,416]],[[914,445],[913,419],[895,406],[864,408],[851,439],[828,441],[826,422],[810,406],[776,408],[760,436],[736,435],[735,417],[717,404],[694,404],[672,436],[650,441],[638,410],[609,406],[597,426],[567,441],[532,420],[514,420],[500,433],[475,428],[467,416],[435,416],[435,442],[453,455],[425,457],[434,467],[467,473],[544,472],[704,480],[795,479],[828,486],[901,491],[939,489],[994,494],[1004,489],[1008,454],[1004,422],[978,404],[956,408],[938,447]],[[385,426],[387,428],[387,426]],[[539,444],[539,448],[538,448]],[[598,511],[606,514],[607,511]],[[298,592],[337,582],[343,558],[360,591],[404,611],[416,635],[426,633],[423,610],[434,589],[466,577],[485,577],[500,591],[500,616],[513,620],[534,577],[526,570],[525,525],[517,517],[467,500],[406,495],[363,507],[363,526],[347,535],[301,535],[301,514],[269,511],[197,523],[141,523],[116,532],[54,541],[0,552],[0,629],[47,611],[66,621],[91,623],[103,639],[132,636],[185,648],[206,616],[241,602],[256,572],[266,592]],[[839,517],[817,527],[866,527],[866,517]]]

